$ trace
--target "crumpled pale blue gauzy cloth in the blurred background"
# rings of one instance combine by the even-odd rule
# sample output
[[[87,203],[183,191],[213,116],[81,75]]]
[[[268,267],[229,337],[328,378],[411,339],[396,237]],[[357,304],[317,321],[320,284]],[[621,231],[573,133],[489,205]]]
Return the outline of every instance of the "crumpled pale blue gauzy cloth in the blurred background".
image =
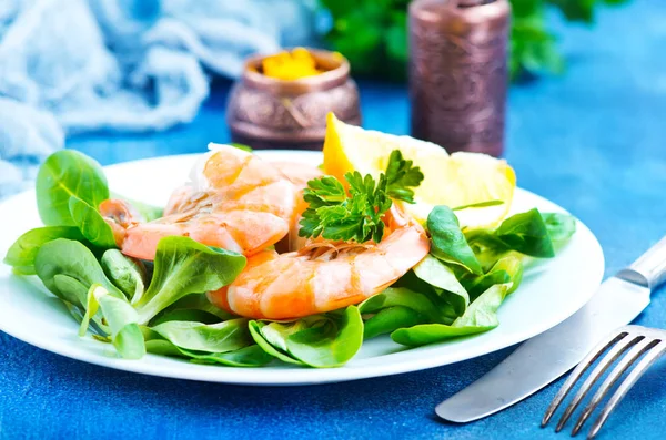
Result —
[[[1,0],[0,197],[63,134],[192,121],[209,76],[314,38],[314,0]]]

